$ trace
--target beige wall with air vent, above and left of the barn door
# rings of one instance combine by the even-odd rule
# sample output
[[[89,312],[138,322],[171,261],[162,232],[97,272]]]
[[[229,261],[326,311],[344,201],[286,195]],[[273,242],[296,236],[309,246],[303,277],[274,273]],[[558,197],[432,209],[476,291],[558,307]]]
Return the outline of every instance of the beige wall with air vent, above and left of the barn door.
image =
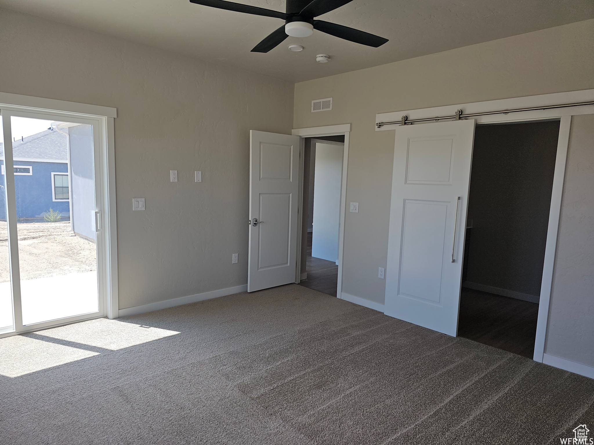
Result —
[[[294,128],[352,123],[343,292],[384,303],[394,132],[376,113],[594,88],[593,43],[588,20],[296,84]],[[323,97],[333,110],[311,113]]]

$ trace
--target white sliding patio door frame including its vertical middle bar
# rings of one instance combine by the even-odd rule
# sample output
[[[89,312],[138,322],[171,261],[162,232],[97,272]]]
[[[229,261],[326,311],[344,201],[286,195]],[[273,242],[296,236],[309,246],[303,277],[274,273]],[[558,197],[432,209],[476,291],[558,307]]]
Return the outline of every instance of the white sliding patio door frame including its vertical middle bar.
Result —
[[[61,100],[21,96],[18,94],[0,93],[0,109],[5,141],[5,173],[7,183],[7,214],[12,299],[14,304],[14,331],[0,334],[0,337],[17,335],[24,332],[62,326],[81,320],[107,316],[110,319],[118,317],[118,260],[116,233],[116,196],[115,196],[115,147],[113,135],[113,120],[116,109],[93,106]],[[67,122],[86,123],[93,125],[93,155],[98,166],[96,174],[96,208],[100,209],[101,228],[97,236],[98,263],[98,293],[99,312],[50,320],[23,326],[20,301],[20,274],[18,266],[17,215],[15,206],[14,171],[12,168],[12,135],[10,116],[33,117],[37,119],[64,120]],[[57,118],[57,119],[56,119]],[[10,144],[10,146],[8,146]],[[10,164],[10,165],[9,165]],[[10,204],[8,203],[10,201]]]

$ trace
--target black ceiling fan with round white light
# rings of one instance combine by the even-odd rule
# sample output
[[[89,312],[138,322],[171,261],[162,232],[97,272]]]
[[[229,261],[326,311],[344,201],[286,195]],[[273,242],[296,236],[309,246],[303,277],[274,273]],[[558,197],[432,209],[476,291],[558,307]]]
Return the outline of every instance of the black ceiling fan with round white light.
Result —
[[[388,39],[365,33],[347,26],[337,25],[323,20],[314,20],[318,15],[326,14],[340,8],[352,0],[286,0],[286,12],[273,11],[272,9],[258,8],[240,3],[228,2],[225,0],[189,0],[197,5],[210,6],[229,11],[245,12],[246,14],[263,15],[264,17],[281,18],[285,24],[269,34],[262,42],[252,49],[252,52],[267,53],[283,42],[288,36],[307,37],[311,36],[314,29],[330,34],[350,42],[361,43],[361,45],[378,46],[384,45]]]

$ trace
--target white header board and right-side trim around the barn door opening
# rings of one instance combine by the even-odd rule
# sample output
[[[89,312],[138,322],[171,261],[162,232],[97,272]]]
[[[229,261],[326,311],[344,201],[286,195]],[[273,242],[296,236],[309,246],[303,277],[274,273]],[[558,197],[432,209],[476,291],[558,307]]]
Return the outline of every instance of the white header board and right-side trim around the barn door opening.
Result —
[[[450,116],[455,110],[462,109],[463,113],[482,113],[489,111],[532,108],[565,103],[576,103],[594,100],[593,90],[568,91],[566,93],[541,94],[539,96],[514,97],[509,99],[491,100],[466,104],[432,107],[416,110],[405,110],[392,113],[375,115],[375,122],[393,122],[406,115],[408,119],[423,119],[427,116]],[[449,115],[447,113],[450,113]],[[541,297],[538,309],[538,322],[536,325],[536,342],[534,347],[534,360],[542,362],[544,359],[546,325],[548,322],[549,303],[551,301],[551,288],[555,251],[557,250],[557,235],[559,218],[561,215],[561,196],[565,179],[565,163],[567,160],[567,147],[571,116],[594,114],[594,106],[582,105],[576,107],[532,110],[527,112],[510,113],[508,115],[475,116],[476,124],[482,123],[511,123],[529,122],[530,120],[560,120],[559,139],[557,143],[557,159],[555,160],[555,173],[551,195],[551,210],[549,212],[549,225],[546,234],[545,262],[542,271]],[[429,125],[431,122],[425,123]],[[423,125],[413,124],[413,125]],[[387,131],[398,128],[398,124],[385,125],[375,131]]]

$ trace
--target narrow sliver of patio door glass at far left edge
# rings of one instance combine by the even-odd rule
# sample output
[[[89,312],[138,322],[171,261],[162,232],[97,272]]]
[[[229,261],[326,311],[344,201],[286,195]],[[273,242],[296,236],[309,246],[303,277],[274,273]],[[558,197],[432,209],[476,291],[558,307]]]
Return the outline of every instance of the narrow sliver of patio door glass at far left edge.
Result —
[[[0,116],[0,135],[2,116]],[[2,138],[0,138],[2,140]],[[4,143],[0,142],[0,164],[4,173]],[[0,177],[0,333],[14,330],[12,290],[10,286],[10,258],[8,256],[8,224],[6,206],[6,175]]]

